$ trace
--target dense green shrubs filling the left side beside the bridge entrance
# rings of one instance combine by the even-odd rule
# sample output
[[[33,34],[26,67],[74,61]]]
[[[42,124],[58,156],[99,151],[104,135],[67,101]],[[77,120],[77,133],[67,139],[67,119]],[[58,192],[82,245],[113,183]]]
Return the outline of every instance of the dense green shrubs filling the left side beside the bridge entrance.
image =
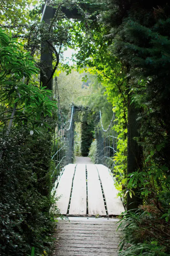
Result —
[[[39,69],[22,44],[3,30],[0,43],[0,254],[30,256],[35,247],[38,256],[44,248],[49,251],[53,242],[49,235],[54,226],[50,131],[57,107],[49,98],[52,92],[32,79]],[[53,119],[49,118],[52,112]]]

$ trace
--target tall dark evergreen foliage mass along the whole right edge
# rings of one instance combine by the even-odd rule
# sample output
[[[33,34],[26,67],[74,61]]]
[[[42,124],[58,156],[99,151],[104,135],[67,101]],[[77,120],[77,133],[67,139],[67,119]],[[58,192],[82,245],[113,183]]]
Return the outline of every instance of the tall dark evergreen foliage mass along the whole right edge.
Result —
[[[168,255],[170,8],[166,1],[124,5],[111,0],[109,4],[110,10],[102,16],[110,28],[106,38],[112,39],[109,50],[113,56],[128,67],[131,104],[141,109],[141,138],[136,140],[145,160],[142,172],[134,170],[127,177],[126,194],[138,191],[144,205],[138,214],[126,214],[122,233],[128,248],[119,254]]]

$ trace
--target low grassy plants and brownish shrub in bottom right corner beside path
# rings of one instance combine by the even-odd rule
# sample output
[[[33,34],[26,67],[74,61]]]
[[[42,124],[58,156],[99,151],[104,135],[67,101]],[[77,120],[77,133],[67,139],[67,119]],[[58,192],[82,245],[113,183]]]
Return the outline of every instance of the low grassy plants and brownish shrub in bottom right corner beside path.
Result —
[[[141,206],[140,212],[125,212],[119,225],[122,234],[119,255],[169,255],[169,228],[166,224],[154,204]]]

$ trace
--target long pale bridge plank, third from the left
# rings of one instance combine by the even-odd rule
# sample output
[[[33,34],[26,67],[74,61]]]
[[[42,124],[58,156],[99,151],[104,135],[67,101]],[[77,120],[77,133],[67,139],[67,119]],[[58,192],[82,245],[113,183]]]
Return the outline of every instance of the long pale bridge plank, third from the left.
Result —
[[[94,164],[86,164],[89,215],[106,215],[103,194],[97,168]]]

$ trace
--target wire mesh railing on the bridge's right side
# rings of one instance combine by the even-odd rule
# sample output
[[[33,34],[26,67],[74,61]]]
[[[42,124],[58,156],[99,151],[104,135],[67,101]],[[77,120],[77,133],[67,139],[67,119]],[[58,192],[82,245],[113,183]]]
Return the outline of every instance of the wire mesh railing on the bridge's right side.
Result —
[[[103,164],[114,170],[116,166],[114,156],[117,153],[117,131],[114,129],[117,121],[115,120],[115,113],[113,113],[112,120],[105,130],[102,123],[102,115],[100,111],[100,127],[97,131],[97,155],[98,164]]]

